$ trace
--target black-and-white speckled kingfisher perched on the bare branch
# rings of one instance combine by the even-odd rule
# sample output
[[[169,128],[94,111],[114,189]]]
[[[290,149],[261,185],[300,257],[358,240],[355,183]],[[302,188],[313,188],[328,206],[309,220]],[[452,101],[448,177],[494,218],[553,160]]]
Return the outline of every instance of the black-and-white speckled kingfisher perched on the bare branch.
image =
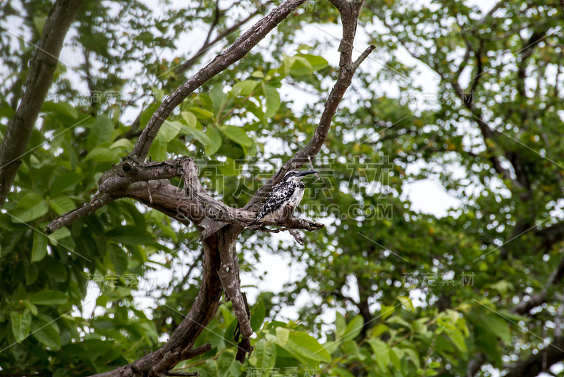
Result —
[[[317,170],[309,170],[307,172],[290,170],[286,173],[282,181],[274,186],[269,195],[266,196],[266,201],[262,205],[257,218],[246,227],[255,225],[257,222],[260,223],[282,217],[286,205],[291,205],[293,208],[298,207],[305,191],[305,186],[300,181],[304,176],[314,173],[318,173]]]

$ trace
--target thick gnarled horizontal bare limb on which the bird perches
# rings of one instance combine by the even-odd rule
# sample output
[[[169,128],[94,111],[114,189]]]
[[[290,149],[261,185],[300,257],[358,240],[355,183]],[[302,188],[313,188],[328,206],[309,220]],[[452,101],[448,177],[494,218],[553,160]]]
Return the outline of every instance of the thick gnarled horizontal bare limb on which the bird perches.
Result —
[[[168,179],[189,177],[186,191],[169,184]],[[189,225],[192,222],[200,226],[200,236],[205,238],[221,228],[221,223],[243,227],[257,214],[243,209],[231,208],[212,198],[200,184],[197,167],[191,157],[180,157],[163,162],[139,162],[126,157],[121,164],[112,167],[99,179],[99,193],[90,203],[71,210],[47,225],[45,232],[51,234],[56,229],[94,213],[104,205],[118,198],[134,198],[151,208]],[[149,182],[147,186],[146,182]],[[190,220],[190,221],[186,221]],[[221,222],[217,225],[214,223]],[[285,220],[270,220],[264,225],[286,226],[288,229],[319,230],[324,227],[319,222],[292,217],[290,224]],[[256,229],[251,228],[251,229]],[[287,230],[287,229],[285,229]]]

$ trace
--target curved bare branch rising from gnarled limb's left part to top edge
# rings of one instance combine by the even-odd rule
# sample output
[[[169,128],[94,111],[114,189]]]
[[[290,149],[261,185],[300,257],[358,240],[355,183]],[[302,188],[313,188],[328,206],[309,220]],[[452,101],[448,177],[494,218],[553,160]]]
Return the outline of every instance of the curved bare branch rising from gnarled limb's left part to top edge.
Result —
[[[157,137],[159,128],[161,128],[173,109],[182,103],[194,90],[200,88],[207,80],[216,76],[216,74],[220,73],[228,66],[231,66],[235,61],[243,58],[243,56],[266,37],[276,25],[285,20],[291,12],[295,11],[295,9],[304,2],[305,0],[284,1],[281,5],[274,8],[268,16],[259,20],[259,22],[255,23],[255,25],[243,33],[243,35],[238,37],[228,49],[216,56],[211,63],[200,69],[192,78],[183,85],[180,85],[178,89],[166,97],[159,109],[157,109],[151,119],[149,119],[147,126],[145,126],[137,143],[135,143],[135,147],[130,155],[139,157],[140,160],[145,159],[154,138]]]

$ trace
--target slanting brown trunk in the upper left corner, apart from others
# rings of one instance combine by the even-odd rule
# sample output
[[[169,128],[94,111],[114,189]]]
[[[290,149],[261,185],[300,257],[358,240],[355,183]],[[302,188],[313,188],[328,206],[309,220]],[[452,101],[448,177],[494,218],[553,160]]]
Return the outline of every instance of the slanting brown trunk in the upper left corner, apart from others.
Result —
[[[39,109],[47,97],[63,42],[83,0],[57,0],[43,26],[41,41],[30,61],[25,92],[16,114],[10,119],[0,145],[0,208],[12,188],[20,159],[30,142]]]

